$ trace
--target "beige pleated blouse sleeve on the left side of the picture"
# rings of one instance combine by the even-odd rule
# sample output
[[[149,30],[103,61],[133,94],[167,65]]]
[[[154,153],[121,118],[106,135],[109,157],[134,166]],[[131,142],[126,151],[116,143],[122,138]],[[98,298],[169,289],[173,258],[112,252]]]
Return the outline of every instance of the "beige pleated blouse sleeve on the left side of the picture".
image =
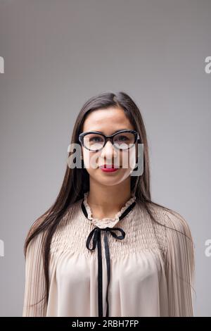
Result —
[[[25,258],[23,317],[46,316],[44,263],[41,254],[43,232],[32,239]]]

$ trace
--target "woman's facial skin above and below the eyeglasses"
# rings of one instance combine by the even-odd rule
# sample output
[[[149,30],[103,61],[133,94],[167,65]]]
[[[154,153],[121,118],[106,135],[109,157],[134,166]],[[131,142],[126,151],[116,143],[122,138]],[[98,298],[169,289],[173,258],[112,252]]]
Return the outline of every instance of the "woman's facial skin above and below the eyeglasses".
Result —
[[[134,130],[134,127],[124,115],[124,111],[114,107],[91,111],[83,126],[83,132],[98,131],[104,135],[113,135],[115,131],[125,129]],[[82,146],[84,167],[90,180],[101,185],[117,185],[126,180],[136,165],[136,145],[127,150],[118,150],[108,140],[103,149],[94,152]],[[104,172],[99,168],[104,164],[114,164],[120,168],[114,172]]]

